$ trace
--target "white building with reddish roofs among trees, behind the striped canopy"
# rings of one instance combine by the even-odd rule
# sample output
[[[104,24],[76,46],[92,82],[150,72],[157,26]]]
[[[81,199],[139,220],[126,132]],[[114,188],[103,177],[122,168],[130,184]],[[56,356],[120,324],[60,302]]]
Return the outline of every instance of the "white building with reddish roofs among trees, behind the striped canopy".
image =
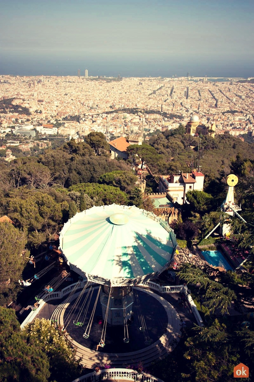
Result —
[[[204,174],[198,171],[181,173],[177,175],[160,175],[159,191],[167,193],[172,202],[185,203],[185,195],[188,191],[203,191]]]

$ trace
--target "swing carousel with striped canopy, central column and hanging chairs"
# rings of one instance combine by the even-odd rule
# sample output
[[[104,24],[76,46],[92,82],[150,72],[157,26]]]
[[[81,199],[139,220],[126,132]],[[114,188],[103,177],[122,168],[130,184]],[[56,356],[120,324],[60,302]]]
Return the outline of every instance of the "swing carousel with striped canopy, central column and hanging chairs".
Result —
[[[105,346],[107,324],[123,326],[123,342],[129,343],[128,320],[135,300],[139,331],[149,344],[145,317],[132,286],[160,274],[173,261],[176,241],[172,237],[175,240],[165,222],[135,206],[94,206],[65,223],[59,236],[61,252],[70,268],[88,280],[64,316],[65,329],[70,323],[84,327],[83,338],[89,338],[100,298],[103,325],[98,346]],[[99,288],[89,310],[96,289],[91,283]],[[78,288],[73,288],[65,303]]]

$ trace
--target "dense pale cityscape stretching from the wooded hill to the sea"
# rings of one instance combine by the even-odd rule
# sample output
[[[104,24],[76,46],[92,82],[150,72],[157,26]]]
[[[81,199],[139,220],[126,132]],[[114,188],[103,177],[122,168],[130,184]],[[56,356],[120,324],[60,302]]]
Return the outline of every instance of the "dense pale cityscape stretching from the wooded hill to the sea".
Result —
[[[80,138],[91,131],[115,137],[186,125],[192,114],[216,134],[234,136],[253,131],[254,85],[238,79],[85,78],[1,76],[1,98],[29,110],[29,115],[1,114],[1,133],[10,126],[40,133],[42,125],[62,125],[51,134]],[[77,120],[67,120],[77,116]],[[73,118],[71,118],[73,119]],[[46,127],[46,126],[45,126]],[[7,131],[7,129],[9,130]],[[53,128],[53,126],[52,126]],[[47,134],[47,129],[42,133]]]

